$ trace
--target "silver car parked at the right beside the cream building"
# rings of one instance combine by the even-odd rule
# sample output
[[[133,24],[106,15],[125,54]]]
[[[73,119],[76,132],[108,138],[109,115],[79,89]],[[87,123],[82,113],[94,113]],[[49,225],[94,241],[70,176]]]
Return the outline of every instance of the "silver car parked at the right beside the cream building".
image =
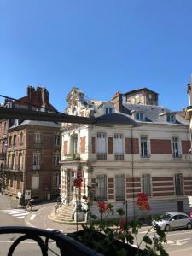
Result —
[[[191,218],[181,212],[166,212],[165,215],[161,216],[160,221],[153,221],[152,224],[158,224],[161,230],[169,231],[174,229],[191,229],[192,221]]]

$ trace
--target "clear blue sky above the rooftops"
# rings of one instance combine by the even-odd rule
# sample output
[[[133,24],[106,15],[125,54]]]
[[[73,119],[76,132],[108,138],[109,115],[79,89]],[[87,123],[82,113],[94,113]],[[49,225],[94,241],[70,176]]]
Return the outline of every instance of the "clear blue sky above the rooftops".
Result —
[[[191,73],[191,0],[0,0],[0,94],[40,84],[63,111],[73,86],[97,100],[148,87],[180,110]]]

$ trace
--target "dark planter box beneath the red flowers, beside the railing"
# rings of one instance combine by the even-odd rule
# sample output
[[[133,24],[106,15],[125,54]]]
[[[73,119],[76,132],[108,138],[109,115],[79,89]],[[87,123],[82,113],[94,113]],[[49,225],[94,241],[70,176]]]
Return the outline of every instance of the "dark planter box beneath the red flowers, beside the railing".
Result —
[[[103,247],[98,248],[96,244],[99,242],[108,239],[108,236],[96,231],[96,230],[79,230],[78,232],[70,233],[67,236],[73,237],[76,241],[84,243],[85,246],[90,247],[91,249],[95,250],[97,253],[101,253],[101,255],[106,256],[117,256],[118,251],[124,249],[125,254],[127,256],[135,256],[138,253],[137,247],[133,247],[129,244],[126,244],[122,241],[115,240],[113,243],[110,244],[110,247]],[[109,240],[110,242],[110,240]],[[103,249],[103,250],[102,250]],[[142,250],[139,250],[139,255],[144,256],[146,255],[143,253]]]

